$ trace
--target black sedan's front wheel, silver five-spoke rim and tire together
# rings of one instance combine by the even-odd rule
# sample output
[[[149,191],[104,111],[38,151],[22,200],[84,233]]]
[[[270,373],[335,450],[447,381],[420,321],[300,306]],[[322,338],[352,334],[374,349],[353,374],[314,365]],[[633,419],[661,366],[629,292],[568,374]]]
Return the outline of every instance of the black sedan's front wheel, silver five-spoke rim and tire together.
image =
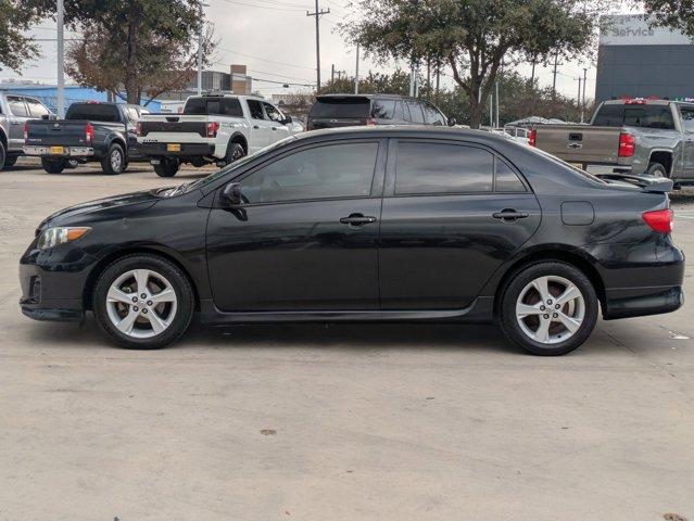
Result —
[[[156,350],[188,329],[193,293],[188,278],[171,262],[129,255],[101,274],[92,307],[101,329],[119,345]]]

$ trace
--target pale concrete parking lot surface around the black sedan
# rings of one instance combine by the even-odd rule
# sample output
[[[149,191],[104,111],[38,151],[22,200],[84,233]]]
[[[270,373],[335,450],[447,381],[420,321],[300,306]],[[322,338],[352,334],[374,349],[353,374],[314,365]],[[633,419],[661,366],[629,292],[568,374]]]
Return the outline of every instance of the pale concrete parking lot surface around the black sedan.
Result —
[[[147,352],[23,317],[43,217],[205,171],[0,173],[0,520],[694,519],[690,303],[558,358],[482,326],[194,326]],[[672,202],[691,258],[694,192]]]

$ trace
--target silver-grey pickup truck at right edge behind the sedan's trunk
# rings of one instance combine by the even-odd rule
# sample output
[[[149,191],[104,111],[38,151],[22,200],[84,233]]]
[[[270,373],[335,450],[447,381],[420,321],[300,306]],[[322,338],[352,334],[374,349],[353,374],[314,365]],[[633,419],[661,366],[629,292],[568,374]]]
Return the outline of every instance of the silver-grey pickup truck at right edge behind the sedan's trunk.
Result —
[[[694,104],[611,100],[590,125],[539,125],[530,144],[593,174],[670,177],[694,183]]]

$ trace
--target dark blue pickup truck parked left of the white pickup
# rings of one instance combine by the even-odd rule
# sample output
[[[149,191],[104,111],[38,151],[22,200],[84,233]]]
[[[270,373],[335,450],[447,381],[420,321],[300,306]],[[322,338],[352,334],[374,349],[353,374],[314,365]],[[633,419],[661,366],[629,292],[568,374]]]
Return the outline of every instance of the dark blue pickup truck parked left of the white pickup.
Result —
[[[24,153],[41,157],[49,174],[60,174],[71,160],[100,162],[104,174],[121,174],[131,161],[148,161],[139,153],[136,131],[147,112],[124,103],[73,103],[65,119],[26,122]]]

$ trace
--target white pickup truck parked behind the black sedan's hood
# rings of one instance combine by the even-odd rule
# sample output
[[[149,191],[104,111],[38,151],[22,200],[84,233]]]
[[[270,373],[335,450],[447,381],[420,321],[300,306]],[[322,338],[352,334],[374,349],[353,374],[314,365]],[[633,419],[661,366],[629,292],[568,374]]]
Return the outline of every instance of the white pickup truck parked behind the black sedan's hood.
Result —
[[[154,171],[172,177],[181,163],[224,166],[293,134],[290,116],[262,98],[191,96],[182,114],[148,114],[137,129]]]

